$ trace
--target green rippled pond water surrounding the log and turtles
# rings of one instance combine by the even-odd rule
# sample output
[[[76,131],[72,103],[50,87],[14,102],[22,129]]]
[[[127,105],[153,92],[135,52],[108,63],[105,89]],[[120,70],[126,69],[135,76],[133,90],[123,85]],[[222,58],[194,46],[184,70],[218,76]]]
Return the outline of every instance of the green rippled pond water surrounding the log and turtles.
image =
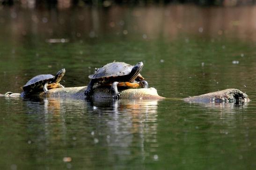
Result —
[[[1,93],[60,68],[61,84],[85,86],[94,68],[116,60],[143,61],[141,74],[167,99],[0,98],[0,168],[254,169],[255,11],[1,8]],[[226,88],[251,101],[180,100]]]

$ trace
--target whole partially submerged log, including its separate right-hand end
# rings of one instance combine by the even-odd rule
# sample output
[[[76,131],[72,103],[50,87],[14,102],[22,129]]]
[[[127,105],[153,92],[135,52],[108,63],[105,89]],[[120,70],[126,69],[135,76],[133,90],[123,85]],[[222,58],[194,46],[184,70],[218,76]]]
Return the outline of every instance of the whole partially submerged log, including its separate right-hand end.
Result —
[[[45,95],[44,92],[35,93],[33,96],[38,97],[71,97],[84,99],[84,92],[86,86],[73,87],[73,88],[53,88],[49,90],[49,94]],[[119,90],[122,94],[122,99],[164,99],[158,95],[155,88],[138,88],[138,89],[123,89]],[[19,97],[20,93],[7,92],[6,97]],[[111,98],[110,88],[106,87],[94,87],[93,99]],[[249,102],[249,97],[245,93],[238,89],[230,88],[217,92],[207,93],[204,95],[197,95],[193,97],[184,98],[185,102],[198,102],[198,103],[209,103],[209,102]]]

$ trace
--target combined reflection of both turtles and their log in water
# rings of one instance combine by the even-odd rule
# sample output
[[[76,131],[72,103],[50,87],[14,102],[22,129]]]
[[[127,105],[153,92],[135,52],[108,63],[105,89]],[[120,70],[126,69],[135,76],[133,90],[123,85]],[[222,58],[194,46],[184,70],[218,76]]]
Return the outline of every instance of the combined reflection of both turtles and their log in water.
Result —
[[[24,102],[24,109],[39,115],[29,116],[33,124],[28,128],[40,132],[32,142],[42,143],[43,140],[39,146],[44,147],[46,156],[52,154],[47,150],[60,145],[92,151],[92,146],[99,144],[104,145],[100,153],[108,155],[109,161],[121,160],[136,152],[141,162],[152,152],[148,144],[157,147],[158,100],[86,101],[42,97],[24,99]],[[86,160],[90,163],[97,158],[97,154],[91,154]]]

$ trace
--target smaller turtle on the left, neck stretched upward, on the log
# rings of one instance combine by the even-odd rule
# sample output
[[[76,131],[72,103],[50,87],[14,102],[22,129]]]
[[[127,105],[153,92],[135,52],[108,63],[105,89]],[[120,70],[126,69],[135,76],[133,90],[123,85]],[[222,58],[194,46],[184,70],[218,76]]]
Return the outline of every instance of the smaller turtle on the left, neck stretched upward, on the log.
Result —
[[[36,91],[39,88],[43,88],[46,95],[48,94],[48,88],[64,88],[64,86],[59,84],[59,82],[64,76],[65,71],[65,68],[62,68],[55,76],[37,75],[33,77],[29,80],[29,82],[21,87],[23,89],[21,96],[24,97],[25,95],[28,95],[29,93]]]

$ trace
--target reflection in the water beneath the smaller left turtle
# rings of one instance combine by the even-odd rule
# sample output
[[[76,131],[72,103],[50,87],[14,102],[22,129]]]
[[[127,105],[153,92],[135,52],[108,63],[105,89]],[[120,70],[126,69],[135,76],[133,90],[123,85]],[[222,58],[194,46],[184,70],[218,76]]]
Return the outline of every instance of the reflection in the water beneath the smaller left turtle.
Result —
[[[28,129],[35,132],[33,135],[37,136],[32,139],[33,142],[40,143],[41,140],[45,140],[46,143],[52,143],[66,138],[66,121],[63,114],[65,109],[61,100],[33,97],[24,98],[23,102],[23,109],[29,114]],[[47,146],[44,147],[47,148]]]

